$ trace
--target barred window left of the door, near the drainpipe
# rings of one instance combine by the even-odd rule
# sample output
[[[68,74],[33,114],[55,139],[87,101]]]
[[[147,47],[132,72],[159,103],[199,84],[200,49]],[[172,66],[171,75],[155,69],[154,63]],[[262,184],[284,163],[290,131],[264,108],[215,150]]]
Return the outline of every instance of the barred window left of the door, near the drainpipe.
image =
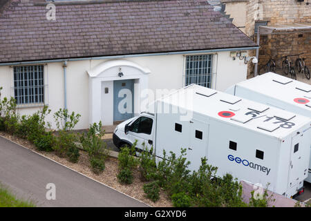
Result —
[[[15,66],[14,94],[17,104],[44,103],[44,66]]]

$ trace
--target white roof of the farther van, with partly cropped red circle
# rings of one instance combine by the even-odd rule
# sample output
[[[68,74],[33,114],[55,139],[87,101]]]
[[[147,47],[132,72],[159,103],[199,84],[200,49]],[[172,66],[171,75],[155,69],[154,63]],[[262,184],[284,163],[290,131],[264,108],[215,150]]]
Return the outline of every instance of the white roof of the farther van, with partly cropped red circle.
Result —
[[[265,73],[236,84],[268,97],[274,97],[290,105],[310,111],[311,85],[275,73]],[[306,103],[307,102],[307,103]]]

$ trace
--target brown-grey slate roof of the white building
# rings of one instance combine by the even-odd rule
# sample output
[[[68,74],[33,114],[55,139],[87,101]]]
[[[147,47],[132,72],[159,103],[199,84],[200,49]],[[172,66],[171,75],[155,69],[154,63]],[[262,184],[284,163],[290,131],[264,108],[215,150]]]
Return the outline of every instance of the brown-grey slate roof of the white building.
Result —
[[[0,63],[256,46],[206,0],[55,3],[56,21],[33,1],[0,8]]]

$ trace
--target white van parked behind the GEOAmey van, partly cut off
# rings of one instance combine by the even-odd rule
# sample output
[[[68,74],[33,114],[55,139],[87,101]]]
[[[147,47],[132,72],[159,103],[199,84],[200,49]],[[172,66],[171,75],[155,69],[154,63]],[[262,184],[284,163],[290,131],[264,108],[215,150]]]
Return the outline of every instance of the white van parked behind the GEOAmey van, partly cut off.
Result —
[[[241,81],[226,92],[311,117],[311,85],[275,73],[265,73]],[[311,140],[311,136],[309,139]],[[311,183],[311,154],[308,174],[305,181]]]

